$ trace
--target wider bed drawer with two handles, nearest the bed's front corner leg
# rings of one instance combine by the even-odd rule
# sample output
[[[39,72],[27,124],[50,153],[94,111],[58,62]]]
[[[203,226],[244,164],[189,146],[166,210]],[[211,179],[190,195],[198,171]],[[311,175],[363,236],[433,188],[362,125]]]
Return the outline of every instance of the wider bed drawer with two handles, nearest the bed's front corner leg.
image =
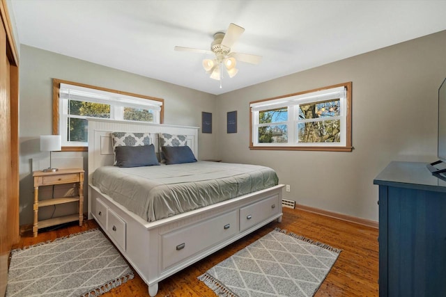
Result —
[[[238,213],[231,211],[211,220],[162,235],[162,268],[180,263],[215,243],[238,233]]]

